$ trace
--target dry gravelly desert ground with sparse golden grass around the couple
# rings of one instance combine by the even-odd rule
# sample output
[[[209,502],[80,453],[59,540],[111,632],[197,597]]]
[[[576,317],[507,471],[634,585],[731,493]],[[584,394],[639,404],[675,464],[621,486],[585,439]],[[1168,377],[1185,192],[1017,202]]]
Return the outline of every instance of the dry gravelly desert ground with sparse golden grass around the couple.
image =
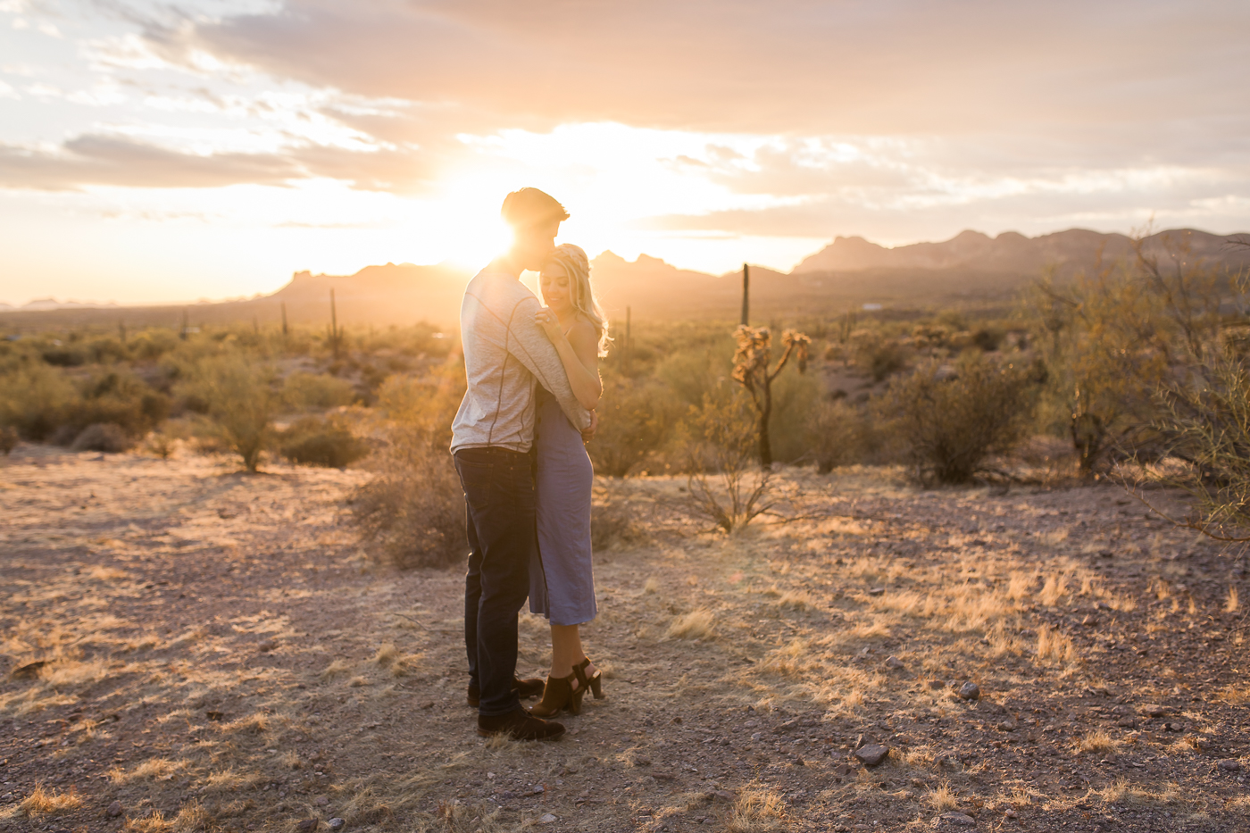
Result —
[[[1245,557],[1114,485],[788,470],[725,535],[605,480],[608,697],[521,744],[474,732],[459,570],[358,543],[366,477],[19,447],[0,830],[1250,829]]]

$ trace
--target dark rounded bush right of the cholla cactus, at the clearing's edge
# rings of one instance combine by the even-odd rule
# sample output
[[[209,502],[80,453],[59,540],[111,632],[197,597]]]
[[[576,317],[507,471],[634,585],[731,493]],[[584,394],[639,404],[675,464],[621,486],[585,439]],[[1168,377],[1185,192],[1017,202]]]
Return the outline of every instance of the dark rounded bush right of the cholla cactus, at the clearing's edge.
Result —
[[[921,483],[968,483],[1025,435],[1036,379],[1029,368],[965,353],[955,373],[931,361],[891,381],[879,403]]]

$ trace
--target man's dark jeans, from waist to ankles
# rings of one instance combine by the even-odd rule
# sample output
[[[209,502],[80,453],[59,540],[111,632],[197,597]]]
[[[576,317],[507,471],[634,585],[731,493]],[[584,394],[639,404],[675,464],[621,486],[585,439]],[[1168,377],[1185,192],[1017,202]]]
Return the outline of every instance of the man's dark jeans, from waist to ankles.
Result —
[[[465,574],[465,650],[481,692],[479,714],[514,710],[516,614],[530,594],[538,549],[534,455],[504,448],[456,452],[465,492],[469,572]]]

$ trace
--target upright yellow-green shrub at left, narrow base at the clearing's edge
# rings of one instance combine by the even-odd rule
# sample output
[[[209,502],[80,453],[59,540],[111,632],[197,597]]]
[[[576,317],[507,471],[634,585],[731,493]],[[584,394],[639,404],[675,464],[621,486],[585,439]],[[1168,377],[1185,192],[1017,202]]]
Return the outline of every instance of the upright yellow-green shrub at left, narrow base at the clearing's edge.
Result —
[[[248,470],[255,472],[272,438],[272,418],[280,404],[272,369],[226,353],[199,361],[179,390],[205,404],[206,438],[238,453]]]

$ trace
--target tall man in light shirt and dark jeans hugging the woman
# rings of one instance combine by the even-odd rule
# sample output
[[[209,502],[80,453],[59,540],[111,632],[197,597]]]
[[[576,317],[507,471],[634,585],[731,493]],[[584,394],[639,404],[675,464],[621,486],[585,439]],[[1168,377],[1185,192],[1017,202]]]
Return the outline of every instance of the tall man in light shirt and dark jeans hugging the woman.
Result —
[[[594,416],[572,394],[560,356],[534,321],[539,299],[520,283],[555,249],[569,213],[536,188],[522,188],[500,211],[512,226],[509,253],[469,281],[460,308],[469,389],[451,424],[451,453],[468,507],[465,650],[469,704],[478,734],[519,740],[554,739],[559,723],[520,704],[542,682],[516,678],[516,614],[529,595],[529,565],[538,547],[534,500],[535,384],[550,390],[574,425],[592,430]]]

